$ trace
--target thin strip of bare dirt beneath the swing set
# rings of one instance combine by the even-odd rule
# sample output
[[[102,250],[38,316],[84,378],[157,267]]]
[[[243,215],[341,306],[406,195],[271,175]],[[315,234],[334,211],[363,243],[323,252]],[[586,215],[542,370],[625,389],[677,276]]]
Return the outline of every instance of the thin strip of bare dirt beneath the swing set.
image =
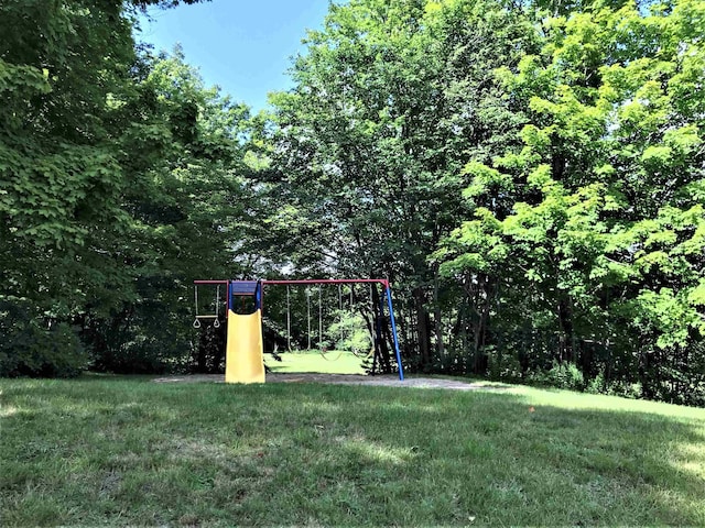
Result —
[[[225,383],[223,374],[191,374],[164,376],[153,380],[156,383]],[[482,384],[462,380],[437,377],[406,377],[403,382],[398,376],[364,376],[359,374],[267,374],[267,383],[332,383],[338,385],[378,385],[392,387],[447,388],[453,391],[508,389],[509,385]]]

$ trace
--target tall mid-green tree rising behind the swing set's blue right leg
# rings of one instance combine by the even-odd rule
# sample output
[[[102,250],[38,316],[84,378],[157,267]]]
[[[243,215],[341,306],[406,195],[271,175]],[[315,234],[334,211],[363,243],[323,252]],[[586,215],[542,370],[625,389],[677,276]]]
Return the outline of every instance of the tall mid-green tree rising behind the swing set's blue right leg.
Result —
[[[294,89],[273,98],[267,174],[286,207],[271,224],[300,263],[392,279],[424,367],[444,343],[427,255],[466,211],[468,153],[489,161],[519,125],[492,68],[518,64],[532,35],[499,2],[332,6],[292,68]]]

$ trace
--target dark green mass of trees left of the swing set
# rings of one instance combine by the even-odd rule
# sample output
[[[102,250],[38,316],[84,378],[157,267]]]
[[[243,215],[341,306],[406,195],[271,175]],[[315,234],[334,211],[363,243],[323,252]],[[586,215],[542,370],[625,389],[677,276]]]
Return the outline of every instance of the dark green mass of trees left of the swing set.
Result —
[[[0,301],[30,329],[7,372],[185,369],[188,285],[234,272],[248,110],[180,50],[138,53],[134,9],[0,7]]]

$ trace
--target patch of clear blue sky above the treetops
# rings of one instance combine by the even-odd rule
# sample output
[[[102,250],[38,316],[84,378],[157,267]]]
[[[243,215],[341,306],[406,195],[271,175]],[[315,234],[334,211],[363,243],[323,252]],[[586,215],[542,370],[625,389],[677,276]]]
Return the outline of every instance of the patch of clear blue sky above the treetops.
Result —
[[[218,85],[252,110],[267,94],[291,87],[286,69],[306,29],[319,29],[328,0],[213,0],[174,9],[150,9],[138,40],[171,51],[181,43],[186,62],[205,82]]]

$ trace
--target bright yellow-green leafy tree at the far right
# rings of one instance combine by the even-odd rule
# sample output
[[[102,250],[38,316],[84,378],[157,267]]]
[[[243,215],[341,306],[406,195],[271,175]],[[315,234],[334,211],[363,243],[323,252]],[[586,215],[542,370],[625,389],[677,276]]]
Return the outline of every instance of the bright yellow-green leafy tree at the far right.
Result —
[[[595,2],[540,19],[542,52],[498,72],[530,122],[520,148],[471,169],[512,210],[476,202],[474,183],[475,218],[437,256],[502,283],[495,328],[528,329],[513,339],[524,372],[577,362],[603,388],[702,404],[703,20],[688,0]],[[544,353],[534,340],[527,356],[536,333]]]

